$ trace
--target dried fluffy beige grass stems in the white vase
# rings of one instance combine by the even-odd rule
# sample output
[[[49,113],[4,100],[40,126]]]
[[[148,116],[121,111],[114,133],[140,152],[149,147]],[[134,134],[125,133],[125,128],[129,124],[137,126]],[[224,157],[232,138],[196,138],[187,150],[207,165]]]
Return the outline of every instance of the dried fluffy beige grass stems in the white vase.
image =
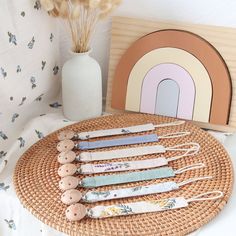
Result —
[[[95,26],[106,18],[122,0],[40,0],[42,7],[54,17],[68,21],[73,51],[87,52]]]

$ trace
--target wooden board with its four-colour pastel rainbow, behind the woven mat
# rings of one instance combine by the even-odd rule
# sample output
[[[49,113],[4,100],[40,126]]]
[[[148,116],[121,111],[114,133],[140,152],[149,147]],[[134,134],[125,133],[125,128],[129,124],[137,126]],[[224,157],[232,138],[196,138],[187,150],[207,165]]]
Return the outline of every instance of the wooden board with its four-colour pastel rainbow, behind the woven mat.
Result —
[[[133,24],[133,31],[125,31],[127,21],[128,27]],[[145,30],[148,24],[150,29],[159,26],[149,32]],[[144,29],[139,28],[142,26]],[[200,26],[193,26],[192,30],[189,30],[191,26],[174,26],[114,18],[107,110],[111,107],[229,125],[234,78],[231,78],[227,61],[208,41],[207,34],[199,34]],[[134,37],[131,34],[135,30],[138,33]],[[204,30],[203,27],[201,32]],[[138,37],[139,31],[143,33],[141,37]],[[214,27],[207,33],[220,35]],[[236,30],[234,37],[236,39]],[[126,47],[122,48],[122,54],[114,48],[119,39]],[[131,43],[128,45],[125,39]]]

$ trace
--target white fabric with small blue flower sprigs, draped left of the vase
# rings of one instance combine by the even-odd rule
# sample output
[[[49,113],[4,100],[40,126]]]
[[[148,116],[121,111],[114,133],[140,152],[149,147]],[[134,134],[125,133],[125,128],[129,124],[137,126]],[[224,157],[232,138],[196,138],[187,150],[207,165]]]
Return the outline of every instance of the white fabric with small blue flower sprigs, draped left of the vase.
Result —
[[[62,115],[58,22],[37,0],[0,1],[0,235],[62,235],[23,208],[12,176],[18,158]]]

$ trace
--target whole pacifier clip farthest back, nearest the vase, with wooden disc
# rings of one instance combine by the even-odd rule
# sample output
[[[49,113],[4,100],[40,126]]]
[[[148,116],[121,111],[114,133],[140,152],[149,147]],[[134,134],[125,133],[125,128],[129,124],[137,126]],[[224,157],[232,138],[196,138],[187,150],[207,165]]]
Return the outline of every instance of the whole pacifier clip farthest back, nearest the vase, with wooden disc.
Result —
[[[182,120],[158,124],[158,125],[148,123],[148,124],[135,125],[135,126],[129,126],[129,127],[124,127],[124,128],[103,129],[103,130],[87,131],[87,132],[81,132],[81,133],[76,133],[72,130],[65,130],[59,133],[58,139],[60,141],[67,140],[67,139],[87,140],[90,138],[100,138],[100,137],[106,137],[106,136],[134,134],[134,133],[139,133],[139,132],[152,131],[152,130],[155,130],[156,128],[177,126],[177,125],[182,125],[184,123],[185,121],[182,121]]]

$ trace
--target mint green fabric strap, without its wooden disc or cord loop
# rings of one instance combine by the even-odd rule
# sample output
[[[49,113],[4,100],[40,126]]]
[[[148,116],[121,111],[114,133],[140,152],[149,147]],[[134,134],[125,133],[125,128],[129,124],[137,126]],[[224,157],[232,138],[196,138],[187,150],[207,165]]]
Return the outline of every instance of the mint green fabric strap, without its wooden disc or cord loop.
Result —
[[[81,186],[85,188],[94,188],[113,184],[168,178],[173,176],[175,176],[175,173],[171,167],[163,167],[139,172],[130,172],[127,174],[86,177],[82,179]]]

